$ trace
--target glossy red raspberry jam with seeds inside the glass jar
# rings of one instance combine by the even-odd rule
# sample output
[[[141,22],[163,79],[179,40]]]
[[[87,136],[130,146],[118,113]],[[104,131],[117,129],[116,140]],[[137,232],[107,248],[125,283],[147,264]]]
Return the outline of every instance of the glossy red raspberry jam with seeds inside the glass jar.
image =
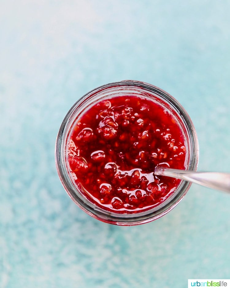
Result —
[[[166,107],[144,97],[117,96],[76,120],[67,159],[72,181],[91,203],[130,214],[174,193],[180,180],[153,174],[156,165],[185,168],[184,136]]]

